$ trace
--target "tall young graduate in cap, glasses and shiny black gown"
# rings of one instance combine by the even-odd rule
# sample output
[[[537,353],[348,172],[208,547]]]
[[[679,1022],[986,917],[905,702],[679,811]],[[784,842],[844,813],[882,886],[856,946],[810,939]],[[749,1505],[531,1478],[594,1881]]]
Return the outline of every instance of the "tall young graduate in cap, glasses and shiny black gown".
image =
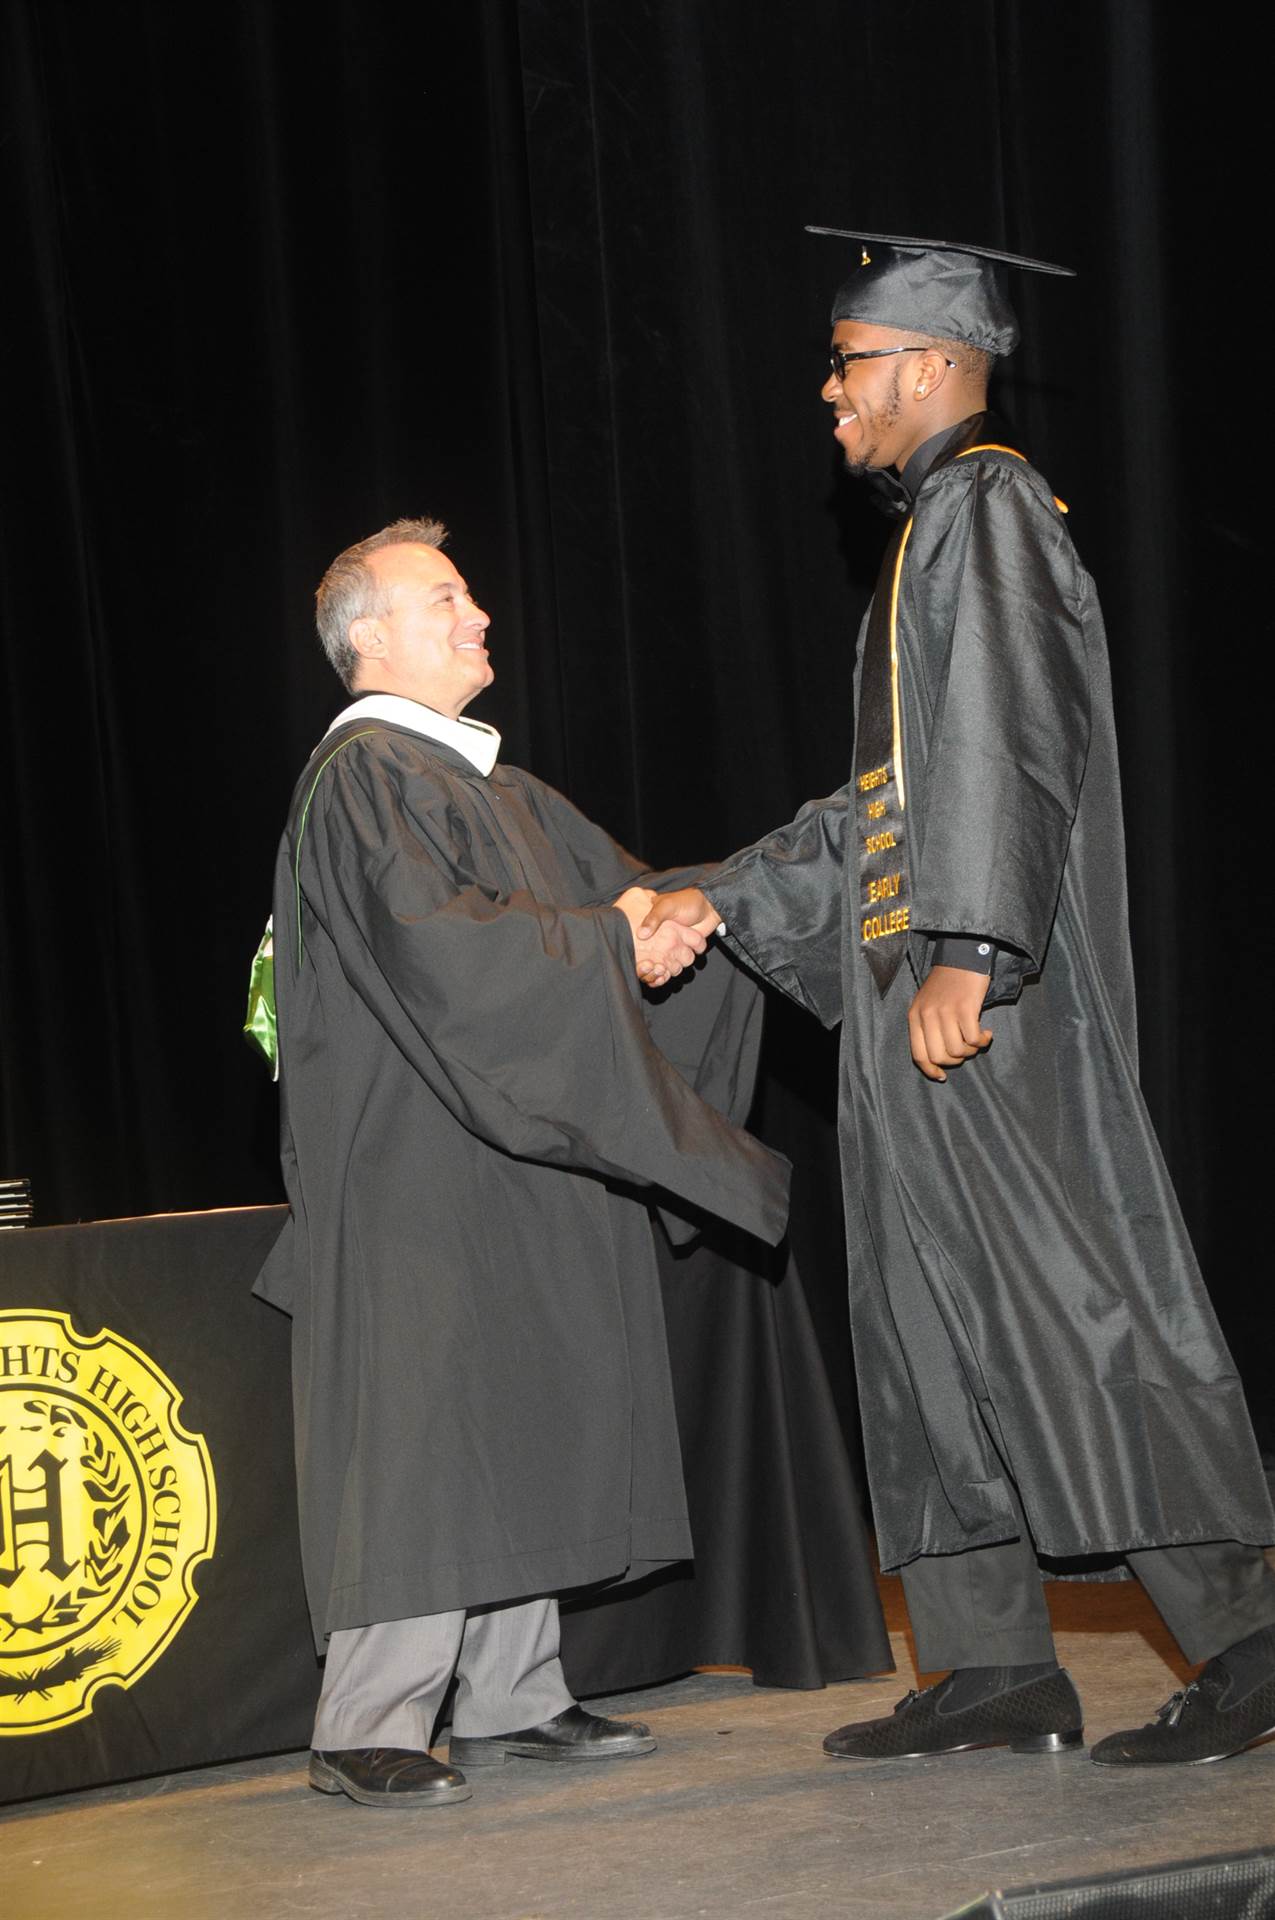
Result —
[[[1275,1730],[1275,1538],[1244,1396],[1139,1092],[1095,584],[987,411],[1018,323],[987,248],[839,232],[822,390],[897,526],[851,781],[647,927],[710,931],[841,1023],[851,1319],[881,1563],[922,1670],[837,1757],[1079,1743],[1039,1555],[1121,1553],[1198,1680],[1093,1749]],[[995,1044],[991,1044],[995,1039]]]

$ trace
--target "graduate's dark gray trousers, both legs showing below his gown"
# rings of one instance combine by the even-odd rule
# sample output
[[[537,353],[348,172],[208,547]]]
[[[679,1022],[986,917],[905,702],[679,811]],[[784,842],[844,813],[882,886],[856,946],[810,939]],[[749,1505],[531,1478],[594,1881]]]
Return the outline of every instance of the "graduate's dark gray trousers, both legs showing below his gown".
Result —
[[[1056,1657],[1022,1507],[1018,1517],[1018,1540],[968,1553],[924,1553],[901,1569],[922,1672],[1031,1667]],[[1212,1659],[1260,1626],[1275,1626],[1275,1574],[1262,1548],[1206,1540],[1141,1548],[1125,1553],[1125,1561],[1191,1665]]]

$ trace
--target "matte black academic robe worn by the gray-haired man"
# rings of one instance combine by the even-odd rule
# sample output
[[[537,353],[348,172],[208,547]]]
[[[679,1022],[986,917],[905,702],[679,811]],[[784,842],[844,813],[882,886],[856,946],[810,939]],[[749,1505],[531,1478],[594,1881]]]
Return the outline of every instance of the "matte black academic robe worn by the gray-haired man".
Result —
[[[586,904],[638,872],[528,774],[382,720],[330,733],[296,789],[292,1217],[257,1292],[294,1317],[319,1644],[691,1551],[643,1202],[776,1242],[789,1169],[732,1123],[760,1012],[726,956],[693,1021],[676,998],[678,1064],[653,1044],[628,925]]]

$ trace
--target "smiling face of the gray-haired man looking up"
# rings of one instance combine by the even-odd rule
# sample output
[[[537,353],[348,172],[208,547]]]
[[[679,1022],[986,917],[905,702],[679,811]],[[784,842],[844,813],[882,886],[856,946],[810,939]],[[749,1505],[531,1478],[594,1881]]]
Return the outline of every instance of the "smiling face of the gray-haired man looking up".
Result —
[[[438,547],[380,547],[367,564],[386,589],[386,611],[349,624],[359,655],[351,691],[401,693],[459,720],[495,680],[486,649],[490,614]]]

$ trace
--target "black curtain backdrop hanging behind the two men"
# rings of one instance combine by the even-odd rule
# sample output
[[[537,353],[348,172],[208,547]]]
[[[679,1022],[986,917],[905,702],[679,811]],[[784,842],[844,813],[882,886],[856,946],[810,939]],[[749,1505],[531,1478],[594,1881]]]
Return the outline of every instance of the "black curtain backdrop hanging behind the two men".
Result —
[[[1258,63],[1152,0],[8,0],[0,1171],[38,1219],[278,1196],[238,1039],[275,839],[340,701],[330,555],[438,513],[478,712],[651,860],[841,783],[883,540],[818,403],[841,255],[1004,244],[1002,405],[1098,576],[1143,1081],[1271,1432],[1267,785],[1244,202]],[[1244,67],[1252,69],[1252,81]],[[831,1037],[760,1129],[841,1340]],[[845,1386],[845,1380],[843,1380]]]

